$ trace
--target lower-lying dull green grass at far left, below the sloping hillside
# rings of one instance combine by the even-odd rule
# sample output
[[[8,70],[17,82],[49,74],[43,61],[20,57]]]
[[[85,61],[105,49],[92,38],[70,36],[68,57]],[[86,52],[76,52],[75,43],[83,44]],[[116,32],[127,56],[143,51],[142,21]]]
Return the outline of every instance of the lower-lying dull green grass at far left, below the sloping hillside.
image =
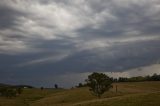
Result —
[[[64,90],[46,89],[42,91],[40,89],[24,89],[23,93],[17,97],[0,97],[0,106],[29,106],[29,104],[36,100],[43,99],[61,91]]]

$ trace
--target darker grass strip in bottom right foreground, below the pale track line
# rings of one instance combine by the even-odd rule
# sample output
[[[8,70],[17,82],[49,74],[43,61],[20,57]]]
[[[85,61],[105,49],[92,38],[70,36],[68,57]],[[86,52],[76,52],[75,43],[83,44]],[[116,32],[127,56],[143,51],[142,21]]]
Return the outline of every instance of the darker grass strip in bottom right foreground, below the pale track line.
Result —
[[[72,106],[160,106],[160,92],[87,101]]]

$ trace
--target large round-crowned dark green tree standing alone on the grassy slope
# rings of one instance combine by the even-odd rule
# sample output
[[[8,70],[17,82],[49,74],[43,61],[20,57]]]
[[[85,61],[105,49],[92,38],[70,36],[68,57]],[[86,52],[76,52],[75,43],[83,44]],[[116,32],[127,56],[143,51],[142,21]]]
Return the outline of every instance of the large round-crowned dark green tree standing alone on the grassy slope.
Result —
[[[86,82],[87,85],[90,87],[89,90],[92,91],[93,94],[95,94],[99,98],[105,91],[108,91],[112,87],[111,79],[103,73],[92,73],[88,76]]]

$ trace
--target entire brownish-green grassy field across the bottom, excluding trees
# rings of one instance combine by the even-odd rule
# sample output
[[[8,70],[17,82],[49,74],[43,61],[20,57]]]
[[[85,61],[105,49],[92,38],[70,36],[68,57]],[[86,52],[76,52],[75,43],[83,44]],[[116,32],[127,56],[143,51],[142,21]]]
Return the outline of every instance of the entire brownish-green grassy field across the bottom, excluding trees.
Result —
[[[0,97],[0,106],[160,106],[160,82],[114,83],[101,99],[88,88],[25,89],[12,99]]]

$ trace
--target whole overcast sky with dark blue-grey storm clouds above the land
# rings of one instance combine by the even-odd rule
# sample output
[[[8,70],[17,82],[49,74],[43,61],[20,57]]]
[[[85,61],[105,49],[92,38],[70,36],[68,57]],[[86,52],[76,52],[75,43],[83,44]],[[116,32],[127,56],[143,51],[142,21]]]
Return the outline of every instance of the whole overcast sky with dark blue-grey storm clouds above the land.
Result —
[[[70,87],[159,63],[159,0],[0,0],[2,83]]]

